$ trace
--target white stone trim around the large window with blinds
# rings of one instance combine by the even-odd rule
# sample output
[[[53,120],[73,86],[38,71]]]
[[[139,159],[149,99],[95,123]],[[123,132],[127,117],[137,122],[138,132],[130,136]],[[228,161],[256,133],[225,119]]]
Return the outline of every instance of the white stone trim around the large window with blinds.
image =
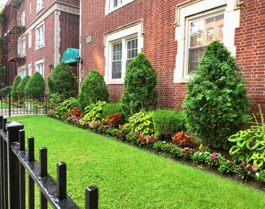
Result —
[[[234,10],[234,1],[197,0],[195,3],[181,3],[177,5],[176,8],[177,21],[174,24],[176,26],[175,40],[178,41],[178,49],[176,54],[176,68],[174,69],[174,83],[185,83],[188,82],[188,79],[190,78],[187,73],[188,38],[186,38],[186,36],[189,34],[188,22],[196,17],[206,17],[214,13],[224,12],[223,42],[233,56],[236,54],[234,34],[235,29],[239,27],[240,10]]]

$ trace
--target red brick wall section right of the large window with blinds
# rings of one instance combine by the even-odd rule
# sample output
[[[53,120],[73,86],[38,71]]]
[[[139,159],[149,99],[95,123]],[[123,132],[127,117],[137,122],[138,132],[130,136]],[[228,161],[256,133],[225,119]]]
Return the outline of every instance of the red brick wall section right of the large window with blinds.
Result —
[[[255,100],[252,111],[260,104],[265,112],[265,1],[245,0],[240,26],[236,29],[236,58],[247,79],[248,95]]]

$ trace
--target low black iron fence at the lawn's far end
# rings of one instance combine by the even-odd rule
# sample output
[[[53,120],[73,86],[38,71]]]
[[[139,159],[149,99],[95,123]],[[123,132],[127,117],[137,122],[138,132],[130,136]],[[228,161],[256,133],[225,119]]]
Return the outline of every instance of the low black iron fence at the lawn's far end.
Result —
[[[49,95],[0,94],[0,114],[48,114],[51,110]]]

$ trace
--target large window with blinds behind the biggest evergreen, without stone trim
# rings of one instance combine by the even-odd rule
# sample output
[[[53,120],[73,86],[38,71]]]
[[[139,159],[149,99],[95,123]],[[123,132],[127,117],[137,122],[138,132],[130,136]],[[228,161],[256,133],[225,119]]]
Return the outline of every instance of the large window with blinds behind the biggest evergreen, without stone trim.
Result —
[[[197,69],[199,59],[204,54],[204,48],[213,40],[223,42],[222,29],[224,14],[190,21],[190,43],[188,49],[188,72]]]

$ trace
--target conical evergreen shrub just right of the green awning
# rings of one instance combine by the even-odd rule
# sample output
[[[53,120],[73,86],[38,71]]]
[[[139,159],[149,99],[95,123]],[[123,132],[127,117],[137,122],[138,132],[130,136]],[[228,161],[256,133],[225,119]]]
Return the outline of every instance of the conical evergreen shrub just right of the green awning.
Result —
[[[79,107],[84,112],[84,108],[98,101],[108,101],[109,91],[107,84],[103,79],[103,75],[100,75],[98,70],[91,70],[84,79],[81,86],[80,93],[78,95]]]

